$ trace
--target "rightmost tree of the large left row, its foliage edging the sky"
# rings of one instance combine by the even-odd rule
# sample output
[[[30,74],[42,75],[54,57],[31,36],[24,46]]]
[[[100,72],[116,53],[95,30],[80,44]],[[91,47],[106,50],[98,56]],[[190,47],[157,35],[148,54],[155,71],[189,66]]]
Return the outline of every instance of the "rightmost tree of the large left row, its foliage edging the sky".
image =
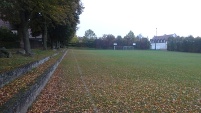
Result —
[[[52,47],[54,43],[56,43],[56,48],[59,48],[57,43],[67,45],[77,30],[79,15],[83,10],[82,3],[80,0],[71,0],[71,2],[67,2],[66,5],[67,6],[65,7],[68,10],[66,12],[64,23],[54,22],[53,26],[48,28]]]

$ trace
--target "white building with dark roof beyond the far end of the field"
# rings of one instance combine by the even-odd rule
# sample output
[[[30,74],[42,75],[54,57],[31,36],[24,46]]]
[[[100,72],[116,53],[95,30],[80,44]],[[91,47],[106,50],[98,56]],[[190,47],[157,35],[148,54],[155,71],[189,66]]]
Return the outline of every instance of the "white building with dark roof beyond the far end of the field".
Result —
[[[170,34],[170,35],[165,34],[163,36],[154,36],[152,39],[150,39],[151,49],[167,50],[167,41],[169,37],[176,37],[176,34]]]

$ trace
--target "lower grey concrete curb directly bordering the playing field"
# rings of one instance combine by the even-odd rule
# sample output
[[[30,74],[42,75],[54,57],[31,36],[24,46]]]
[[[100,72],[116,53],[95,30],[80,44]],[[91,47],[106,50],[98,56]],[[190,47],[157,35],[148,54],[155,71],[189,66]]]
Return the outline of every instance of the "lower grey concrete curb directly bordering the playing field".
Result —
[[[26,113],[29,106],[34,102],[36,97],[40,94],[42,89],[47,84],[48,80],[67,54],[67,50],[62,57],[56,61],[50,68],[48,68],[36,82],[32,84],[29,89],[22,89],[17,95],[8,100],[3,106],[0,106],[0,111],[3,113]],[[26,91],[24,91],[26,90]]]

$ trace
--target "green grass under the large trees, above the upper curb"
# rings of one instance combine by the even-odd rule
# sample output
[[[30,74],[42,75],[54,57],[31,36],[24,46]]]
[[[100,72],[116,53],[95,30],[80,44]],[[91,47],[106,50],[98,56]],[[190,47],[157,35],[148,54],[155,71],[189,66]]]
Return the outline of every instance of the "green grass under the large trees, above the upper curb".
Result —
[[[12,53],[11,58],[0,58],[0,73],[3,73],[8,70],[12,70],[14,68],[17,68],[19,66],[25,65],[27,63],[40,60],[44,57],[53,55],[55,51],[53,50],[47,50],[44,51],[42,49],[33,49],[34,56],[33,57],[27,57],[22,56],[19,54],[16,54],[17,50],[9,50],[9,52]]]

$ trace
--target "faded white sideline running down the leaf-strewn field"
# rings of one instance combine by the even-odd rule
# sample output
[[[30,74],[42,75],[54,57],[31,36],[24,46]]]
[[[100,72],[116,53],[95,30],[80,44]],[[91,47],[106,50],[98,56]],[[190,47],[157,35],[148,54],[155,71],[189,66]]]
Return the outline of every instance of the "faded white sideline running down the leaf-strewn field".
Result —
[[[91,96],[91,93],[90,93],[90,91],[89,91],[89,88],[87,87],[87,85],[86,85],[86,83],[85,83],[85,81],[84,81],[84,79],[83,79],[83,76],[82,76],[83,74],[82,74],[82,70],[81,70],[81,68],[80,68],[80,65],[79,65],[79,63],[78,63],[78,61],[77,61],[77,59],[76,59],[76,56],[75,56],[73,50],[71,50],[71,51],[72,51],[72,53],[73,53],[73,57],[74,57],[75,62],[76,62],[76,64],[77,64],[77,69],[78,69],[78,72],[79,72],[79,74],[80,74],[80,78],[81,78],[81,80],[82,80],[82,83],[84,84],[84,87],[85,87],[85,90],[86,90],[86,93],[87,93],[86,95],[88,96],[89,101],[91,102],[91,104],[92,104],[92,106],[93,106],[94,112],[95,112],[95,113],[98,113],[98,109],[97,109],[96,105],[94,104],[95,102],[94,102],[94,100],[92,99],[92,96]]]

